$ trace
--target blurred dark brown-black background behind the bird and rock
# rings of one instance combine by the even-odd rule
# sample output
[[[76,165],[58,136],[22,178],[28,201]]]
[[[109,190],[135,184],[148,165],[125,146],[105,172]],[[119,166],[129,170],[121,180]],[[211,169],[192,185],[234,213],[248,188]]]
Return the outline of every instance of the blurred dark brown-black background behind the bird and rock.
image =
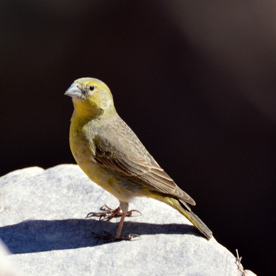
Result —
[[[79,77],[197,201],[217,241],[275,273],[275,1],[1,1],[0,175],[75,163]]]

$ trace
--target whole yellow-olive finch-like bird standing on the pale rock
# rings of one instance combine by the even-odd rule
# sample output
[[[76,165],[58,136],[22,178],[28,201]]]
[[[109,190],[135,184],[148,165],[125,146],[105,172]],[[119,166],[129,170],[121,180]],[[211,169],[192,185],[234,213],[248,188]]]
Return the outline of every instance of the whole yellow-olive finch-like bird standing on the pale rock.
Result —
[[[110,89],[99,79],[75,80],[65,95],[72,97],[74,112],[70,122],[70,150],[90,180],[119,199],[115,210],[89,213],[88,217],[121,217],[115,235],[98,235],[108,242],[139,237],[121,235],[124,220],[135,197],[164,202],[184,215],[207,239],[212,231],[190,209],[195,201],[157,164],[135,132],[119,117]]]

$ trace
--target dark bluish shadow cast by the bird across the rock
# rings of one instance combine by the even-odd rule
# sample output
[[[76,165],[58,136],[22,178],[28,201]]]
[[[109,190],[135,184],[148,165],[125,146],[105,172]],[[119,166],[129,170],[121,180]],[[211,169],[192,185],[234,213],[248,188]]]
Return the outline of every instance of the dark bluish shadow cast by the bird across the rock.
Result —
[[[19,224],[0,227],[0,238],[13,254],[38,253],[99,246],[99,239],[92,232],[114,234],[118,222],[98,219],[28,220]],[[123,235],[137,234],[189,234],[200,235],[188,224],[147,224],[125,221]]]

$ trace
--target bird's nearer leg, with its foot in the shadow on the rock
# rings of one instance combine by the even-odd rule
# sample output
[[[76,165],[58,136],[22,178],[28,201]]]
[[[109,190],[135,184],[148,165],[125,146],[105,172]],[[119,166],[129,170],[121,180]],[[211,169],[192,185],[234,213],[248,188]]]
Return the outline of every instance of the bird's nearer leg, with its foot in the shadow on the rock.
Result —
[[[106,232],[106,234],[108,234],[107,236],[102,236],[102,235],[97,235],[95,233],[92,233],[92,235],[94,237],[104,239],[105,242],[113,242],[113,241],[115,241],[115,239],[131,240],[134,237],[140,237],[139,235],[136,235],[136,234],[130,234],[128,236],[121,236],[121,229],[123,228],[124,219],[126,218],[126,215],[128,213],[128,203],[120,201],[120,206],[117,209],[115,209],[115,211],[117,211],[118,209],[119,209],[119,212],[120,212],[121,220],[119,222],[119,226],[117,228],[117,232],[116,232],[115,236],[112,236],[110,233],[107,233],[107,232]],[[113,217],[115,217],[115,216],[113,216]]]

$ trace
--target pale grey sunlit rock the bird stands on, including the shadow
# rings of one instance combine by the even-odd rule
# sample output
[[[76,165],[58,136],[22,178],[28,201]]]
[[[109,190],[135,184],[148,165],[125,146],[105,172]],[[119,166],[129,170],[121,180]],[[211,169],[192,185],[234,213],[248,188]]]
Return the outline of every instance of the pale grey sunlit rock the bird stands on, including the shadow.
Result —
[[[207,241],[185,217],[153,199],[135,199],[130,208],[143,215],[124,223],[123,235],[141,239],[99,242],[91,232],[115,233],[119,222],[85,218],[103,204],[117,208],[118,201],[77,165],[25,168],[1,177],[0,238],[17,275],[243,275],[215,238]],[[6,275],[1,264],[0,275]]]

